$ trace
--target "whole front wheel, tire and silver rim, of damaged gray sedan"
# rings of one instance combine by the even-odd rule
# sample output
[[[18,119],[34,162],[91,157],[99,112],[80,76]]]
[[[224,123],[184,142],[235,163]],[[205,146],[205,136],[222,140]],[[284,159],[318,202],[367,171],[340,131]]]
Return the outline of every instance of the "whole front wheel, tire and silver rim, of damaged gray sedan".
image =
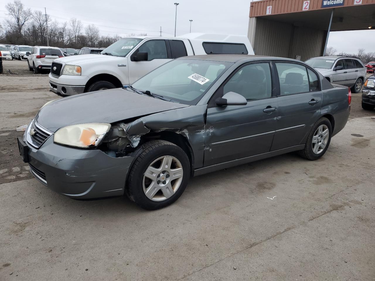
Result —
[[[172,164],[162,168],[163,161]],[[173,169],[180,168],[182,170],[175,172],[176,179],[171,180]],[[147,169],[154,171],[147,173],[154,180],[146,176]],[[156,210],[175,202],[184,192],[189,177],[189,158],[179,146],[167,141],[150,141],[138,149],[129,170],[125,193],[141,208]],[[153,184],[155,188],[151,187]],[[153,192],[147,196],[147,191]]]

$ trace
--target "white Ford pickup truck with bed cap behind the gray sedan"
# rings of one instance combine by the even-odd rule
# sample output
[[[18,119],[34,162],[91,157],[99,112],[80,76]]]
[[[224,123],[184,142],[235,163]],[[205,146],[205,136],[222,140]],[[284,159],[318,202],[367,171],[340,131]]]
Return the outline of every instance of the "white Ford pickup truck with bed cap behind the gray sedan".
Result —
[[[49,88],[62,96],[126,87],[151,70],[178,57],[249,54],[248,37],[189,33],[182,37],[138,36],[118,40],[102,55],[58,58],[51,65]]]

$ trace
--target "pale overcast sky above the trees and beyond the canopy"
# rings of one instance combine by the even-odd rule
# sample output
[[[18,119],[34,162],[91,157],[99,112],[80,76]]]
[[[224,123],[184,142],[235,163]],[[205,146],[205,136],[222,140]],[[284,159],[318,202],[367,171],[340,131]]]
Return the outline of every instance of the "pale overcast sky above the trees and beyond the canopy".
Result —
[[[26,7],[43,10],[59,22],[75,17],[84,24],[94,23],[102,35],[125,37],[129,33],[159,35],[160,26],[164,36],[174,35],[174,1],[33,1],[21,0]],[[6,17],[5,4],[0,0],[0,22]],[[249,23],[249,0],[180,0],[177,6],[177,36],[192,32],[247,35]],[[36,7],[37,6],[37,7]],[[332,32],[328,42],[338,52],[357,52],[365,48],[372,52],[375,44],[375,30]],[[366,40],[362,40],[366,38]],[[366,45],[363,44],[366,42]]]

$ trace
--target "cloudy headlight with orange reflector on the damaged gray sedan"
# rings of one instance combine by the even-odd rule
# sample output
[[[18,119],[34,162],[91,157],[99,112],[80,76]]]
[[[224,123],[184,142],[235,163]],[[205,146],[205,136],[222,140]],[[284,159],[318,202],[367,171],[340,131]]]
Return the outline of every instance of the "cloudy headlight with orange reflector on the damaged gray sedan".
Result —
[[[76,147],[98,146],[110,128],[111,124],[107,123],[70,125],[58,129],[53,141]]]

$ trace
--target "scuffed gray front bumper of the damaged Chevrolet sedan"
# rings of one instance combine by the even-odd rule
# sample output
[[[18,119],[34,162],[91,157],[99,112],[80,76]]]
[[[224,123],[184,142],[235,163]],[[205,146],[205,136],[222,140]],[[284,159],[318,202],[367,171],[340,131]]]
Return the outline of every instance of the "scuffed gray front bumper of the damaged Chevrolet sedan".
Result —
[[[30,172],[51,190],[76,199],[124,194],[133,157],[114,158],[98,149],[78,149],[53,142],[34,148],[26,141]]]

